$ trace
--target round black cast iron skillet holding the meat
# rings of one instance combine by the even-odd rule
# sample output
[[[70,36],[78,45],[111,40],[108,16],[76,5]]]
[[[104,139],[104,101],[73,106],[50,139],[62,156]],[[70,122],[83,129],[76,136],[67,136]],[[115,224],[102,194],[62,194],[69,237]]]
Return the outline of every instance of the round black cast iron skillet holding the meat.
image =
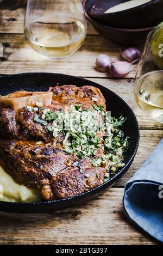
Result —
[[[79,87],[84,85],[98,87],[106,99],[107,110],[111,111],[112,116],[119,117],[121,114],[123,114],[124,117],[127,117],[127,121],[124,124],[124,133],[126,136],[130,137],[130,146],[124,156],[124,162],[126,163],[126,166],[124,166],[120,172],[112,175],[110,180],[101,186],[98,186],[91,191],[79,194],[78,196],[39,203],[0,202],[1,211],[30,213],[47,212],[53,210],[61,210],[73,205],[82,204],[86,200],[95,198],[112,184],[114,184],[114,182],[128,170],[134,160],[139,145],[139,126],[137,124],[136,117],[126,102],[124,102],[119,96],[111,92],[109,89],[106,89],[97,83],[85,80],[80,77],[50,73],[5,75],[0,77],[0,94],[6,95],[15,92],[16,90],[46,91],[49,87],[55,86],[57,83],[60,86],[64,84],[74,84]]]

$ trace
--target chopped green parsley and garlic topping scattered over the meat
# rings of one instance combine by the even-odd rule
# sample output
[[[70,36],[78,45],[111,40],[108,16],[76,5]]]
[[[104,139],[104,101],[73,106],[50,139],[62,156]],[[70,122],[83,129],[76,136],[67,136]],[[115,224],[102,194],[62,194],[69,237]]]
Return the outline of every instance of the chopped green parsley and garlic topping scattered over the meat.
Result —
[[[129,143],[122,130],[126,121],[122,115],[120,118],[110,117],[103,106],[96,105],[93,105],[93,109],[71,105],[66,111],[51,111],[49,108],[39,110],[42,110],[42,116],[35,113],[34,121],[47,126],[54,138],[64,135],[62,147],[68,154],[81,159],[92,157],[92,166],[106,168],[105,180],[109,179],[110,173],[117,172],[125,165],[122,162],[123,154]],[[100,134],[104,132],[105,136],[101,138]],[[99,148],[104,151],[102,157],[96,157]],[[82,169],[80,172],[83,172]]]

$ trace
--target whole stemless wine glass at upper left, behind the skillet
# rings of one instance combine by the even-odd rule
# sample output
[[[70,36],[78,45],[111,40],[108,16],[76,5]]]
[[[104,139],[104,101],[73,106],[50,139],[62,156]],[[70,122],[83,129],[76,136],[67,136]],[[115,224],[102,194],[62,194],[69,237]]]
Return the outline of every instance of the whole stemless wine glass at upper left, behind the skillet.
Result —
[[[81,0],[28,0],[24,35],[43,56],[62,59],[78,50],[86,36]]]

